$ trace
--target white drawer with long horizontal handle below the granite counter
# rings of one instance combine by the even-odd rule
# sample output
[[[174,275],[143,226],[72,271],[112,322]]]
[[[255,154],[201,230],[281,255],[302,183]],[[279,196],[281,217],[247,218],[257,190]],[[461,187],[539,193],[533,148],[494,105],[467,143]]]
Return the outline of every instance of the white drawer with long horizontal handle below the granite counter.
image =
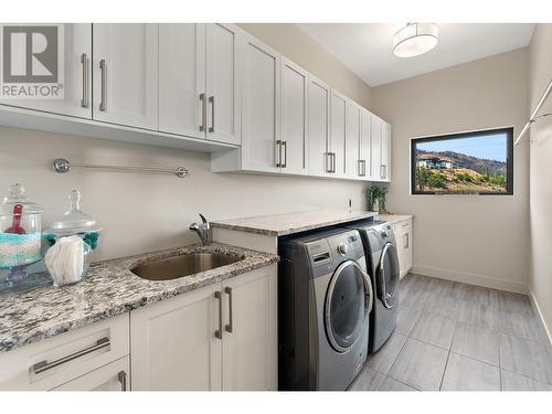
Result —
[[[129,353],[128,314],[0,354],[0,390],[52,390]]]

